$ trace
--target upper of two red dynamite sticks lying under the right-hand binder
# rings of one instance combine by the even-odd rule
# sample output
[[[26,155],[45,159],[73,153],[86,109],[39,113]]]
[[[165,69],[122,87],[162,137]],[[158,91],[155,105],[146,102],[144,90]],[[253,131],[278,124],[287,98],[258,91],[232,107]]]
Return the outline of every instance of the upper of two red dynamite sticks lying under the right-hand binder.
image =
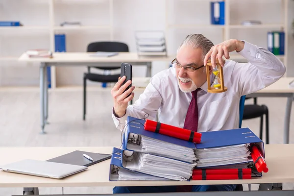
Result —
[[[244,174],[251,175],[250,168],[241,169],[241,170],[242,170],[243,175]],[[238,169],[206,169],[205,173],[206,173],[206,175],[210,175],[210,174],[238,174],[239,170]],[[195,169],[195,170],[193,170],[193,174],[201,174],[202,175],[202,170]]]

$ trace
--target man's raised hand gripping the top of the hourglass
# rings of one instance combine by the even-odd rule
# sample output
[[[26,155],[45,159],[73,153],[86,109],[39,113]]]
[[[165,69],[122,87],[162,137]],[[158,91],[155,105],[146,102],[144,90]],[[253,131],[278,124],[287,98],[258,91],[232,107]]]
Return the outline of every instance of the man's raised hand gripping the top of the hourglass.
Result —
[[[224,56],[226,59],[229,59],[229,52],[237,51],[240,52],[242,49],[244,49],[244,42],[236,39],[230,39],[227,41],[224,41],[218,45],[213,46],[205,55],[204,58],[204,65],[207,65],[207,61],[210,58],[212,67],[216,67],[216,58],[219,59],[219,62],[221,64],[221,67],[223,67],[224,63],[222,61],[222,56]]]

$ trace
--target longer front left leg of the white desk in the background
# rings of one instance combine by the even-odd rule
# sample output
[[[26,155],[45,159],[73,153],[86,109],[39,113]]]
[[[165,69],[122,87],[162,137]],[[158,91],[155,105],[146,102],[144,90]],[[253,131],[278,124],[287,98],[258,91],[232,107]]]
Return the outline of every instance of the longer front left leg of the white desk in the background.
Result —
[[[41,106],[41,129],[42,129],[42,133],[45,133],[45,70],[46,70],[46,66],[45,63],[41,63],[40,66],[40,106]]]

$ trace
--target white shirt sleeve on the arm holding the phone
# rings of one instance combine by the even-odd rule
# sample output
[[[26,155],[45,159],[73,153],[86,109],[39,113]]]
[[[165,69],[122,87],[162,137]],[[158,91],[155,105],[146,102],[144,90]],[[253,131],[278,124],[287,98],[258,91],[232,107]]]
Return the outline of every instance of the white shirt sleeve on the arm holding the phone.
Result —
[[[133,105],[127,107],[123,117],[116,117],[114,110],[112,110],[112,118],[118,129],[123,130],[128,116],[138,119],[155,120],[157,110],[162,104],[160,84],[160,78],[156,75],[153,76],[144,93],[140,95],[139,99]]]

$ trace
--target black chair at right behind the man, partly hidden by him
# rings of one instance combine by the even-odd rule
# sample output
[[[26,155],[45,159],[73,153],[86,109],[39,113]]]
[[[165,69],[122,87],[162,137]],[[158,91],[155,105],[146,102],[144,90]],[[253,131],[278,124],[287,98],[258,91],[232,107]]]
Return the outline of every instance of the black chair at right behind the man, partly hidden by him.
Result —
[[[246,98],[248,99],[248,98]],[[263,138],[263,116],[266,116],[266,144],[269,144],[269,109],[266,105],[258,105],[257,98],[254,98],[254,104],[245,104],[243,120],[254,119],[260,117],[259,138]]]

